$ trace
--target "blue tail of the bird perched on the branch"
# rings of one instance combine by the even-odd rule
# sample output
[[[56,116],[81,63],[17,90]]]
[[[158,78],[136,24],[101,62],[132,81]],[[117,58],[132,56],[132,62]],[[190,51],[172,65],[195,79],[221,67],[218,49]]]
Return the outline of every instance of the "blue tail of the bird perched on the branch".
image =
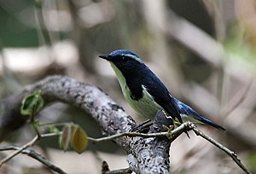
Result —
[[[177,104],[177,110],[180,114],[187,115],[188,117],[192,117],[193,119],[196,119],[202,123],[205,123],[207,125],[212,125],[213,127],[217,128],[218,130],[225,131],[224,127],[222,127],[221,125],[218,125],[218,124],[214,123],[212,120],[205,118],[200,113],[196,113],[191,107],[184,104],[183,102],[180,102],[176,98],[174,98],[174,99]]]

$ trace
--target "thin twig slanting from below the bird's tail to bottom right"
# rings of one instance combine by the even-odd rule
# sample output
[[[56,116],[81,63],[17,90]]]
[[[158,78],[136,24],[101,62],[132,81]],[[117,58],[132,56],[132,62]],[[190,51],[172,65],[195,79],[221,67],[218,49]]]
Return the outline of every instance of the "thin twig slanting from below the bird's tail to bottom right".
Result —
[[[250,171],[247,170],[247,168],[241,163],[241,160],[237,158],[237,155],[231,151],[229,148],[224,147],[224,145],[220,144],[219,142],[216,142],[213,140],[210,136],[205,135],[202,131],[198,130],[195,125],[191,122],[189,122],[189,127],[195,132],[195,135],[201,136],[204,139],[206,139],[208,142],[211,142],[213,145],[216,147],[220,148],[223,150],[226,154],[229,154],[230,157],[236,162],[237,165],[240,166],[242,171],[244,171],[247,174],[252,174]]]

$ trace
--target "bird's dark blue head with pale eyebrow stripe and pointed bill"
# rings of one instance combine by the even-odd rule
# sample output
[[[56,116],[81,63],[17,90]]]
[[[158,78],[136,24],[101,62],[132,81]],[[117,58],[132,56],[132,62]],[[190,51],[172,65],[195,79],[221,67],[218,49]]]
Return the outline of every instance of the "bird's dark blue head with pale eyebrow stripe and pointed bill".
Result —
[[[99,57],[109,61],[112,67],[114,65],[122,73],[137,71],[144,65],[143,60],[138,55],[126,49],[114,50],[109,55],[99,55]]]

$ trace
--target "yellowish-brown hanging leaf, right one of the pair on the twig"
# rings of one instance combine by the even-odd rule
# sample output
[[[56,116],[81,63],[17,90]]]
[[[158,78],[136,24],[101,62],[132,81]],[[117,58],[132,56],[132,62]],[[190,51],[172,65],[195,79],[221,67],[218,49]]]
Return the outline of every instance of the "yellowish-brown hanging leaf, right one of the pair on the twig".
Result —
[[[73,136],[70,143],[72,148],[79,154],[84,152],[84,150],[87,148],[88,136],[79,125],[76,125],[76,127],[73,129]]]

